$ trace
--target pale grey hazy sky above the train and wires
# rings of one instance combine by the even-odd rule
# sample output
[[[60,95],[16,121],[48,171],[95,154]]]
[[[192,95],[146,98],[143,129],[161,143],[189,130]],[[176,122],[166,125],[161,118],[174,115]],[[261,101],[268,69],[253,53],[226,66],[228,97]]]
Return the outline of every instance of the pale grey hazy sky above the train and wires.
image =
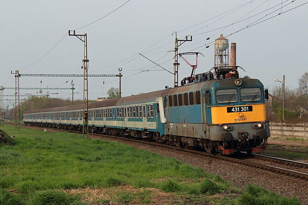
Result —
[[[259,79],[270,87],[274,79],[298,87],[307,72],[308,32],[305,0],[10,0],[2,1],[0,13],[0,85],[15,87],[11,74],[83,74],[83,42],[68,30],[87,34],[88,74],[119,74],[122,97],[173,87],[175,37],[192,41],[180,45],[179,53],[200,52],[195,73],[214,66],[214,44],[223,34],[237,43],[240,75]],[[305,4],[306,3],[306,4]],[[209,40],[206,40],[207,38]],[[190,38],[190,37],[188,37]],[[209,45],[208,48],[206,46]],[[141,56],[140,54],[143,56]],[[145,58],[146,57],[146,58]],[[194,65],[196,56],[185,56]],[[156,62],[161,67],[153,64]],[[179,81],[190,76],[191,67],[180,59]],[[20,77],[20,88],[42,89],[41,95],[83,98],[82,77]],[[118,77],[89,77],[89,99],[107,97],[119,87]],[[44,89],[43,89],[44,88]],[[20,90],[37,94],[39,89]],[[4,95],[15,91],[5,89]],[[39,93],[38,93],[39,94]],[[21,97],[22,98],[22,97]],[[14,99],[14,97],[4,97]]]

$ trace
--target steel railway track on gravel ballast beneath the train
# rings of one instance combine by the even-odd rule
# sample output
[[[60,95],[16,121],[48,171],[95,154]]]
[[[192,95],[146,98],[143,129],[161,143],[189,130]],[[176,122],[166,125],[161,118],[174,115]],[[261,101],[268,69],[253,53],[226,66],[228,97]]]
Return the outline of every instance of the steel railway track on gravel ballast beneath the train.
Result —
[[[6,124],[13,124],[13,123],[6,123]],[[30,125],[21,125],[23,127],[28,127],[28,128],[33,128],[33,126]],[[35,128],[42,128],[45,129],[45,127],[37,127]],[[52,130],[57,130],[57,128],[47,128],[47,129],[52,129]],[[79,133],[78,131],[71,131],[71,130],[63,130],[60,129],[62,132],[73,132],[73,133]],[[95,136],[95,137],[94,137]],[[274,157],[269,157],[269,156],[262,156],[258,154],[251,154],[247,157],[247,154],[245,154],[245,157],[243,157],[244,153],[241,153],[240,157],[237,155],[227,157],[227,156],[219,156],[219,155],[212,155],[206,152],[201,152],[197,150],[190,150],[190,149],[184,149],[184,148],[178,148],[178,147],[172,147],[164,144],[158,144],[157,142],[150,142],[150,141],[141,141],[141,140],[134,140],[134,139],[128,139],[128,138],[122,138],[122,137],[117,137],[117,136],[111,136],[111,135],[105,135],[105,134],[94,134],[94,133],[89,133],[90,138],[110,138],[110,139],[115,139],[119,142],[124,142],[124,141],[130,141],[134,143],[140,143],[140,144],[146,144],[150,146],[159,146],[159,147],[164,147],[167,149],[173,149],[173,150],[180,150],[188,153],[193,153],[193,154],[199,154],[202,156],[210,156],[211,158],[216,158],[219,160],[225,160],[237,164],[243,164],[243,165],[248,165],[254,168],[259,168],[271,172],[275,172],[278,174],[282,175],[290,175],[293,177],[298,177],[301,179],[308,179],[308,164],[303,163],[303,162],[297,162],[297,161],[292,161],[292,160],[285,160],[285,159],[280,159],[280,158],[274,158]],[[241,159],[239,159],[241,158]],[[244,158],[244,159],[243,159]]]

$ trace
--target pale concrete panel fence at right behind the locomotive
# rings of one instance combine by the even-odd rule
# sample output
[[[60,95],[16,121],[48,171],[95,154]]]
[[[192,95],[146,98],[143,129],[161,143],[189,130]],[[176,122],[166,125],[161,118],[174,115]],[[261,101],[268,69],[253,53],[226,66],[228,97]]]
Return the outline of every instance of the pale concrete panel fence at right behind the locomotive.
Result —
[[[270,136],[281,138],[308,139],[308,122],[305,121],[270,121]]]

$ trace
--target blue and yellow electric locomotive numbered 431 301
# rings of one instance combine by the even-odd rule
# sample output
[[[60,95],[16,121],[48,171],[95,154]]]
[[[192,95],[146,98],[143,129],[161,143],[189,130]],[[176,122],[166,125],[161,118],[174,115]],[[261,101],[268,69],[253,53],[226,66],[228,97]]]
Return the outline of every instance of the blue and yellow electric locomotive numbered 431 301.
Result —
[[[228,79],[202,73],[188,85],[170,89],[164,97],[165,135],[156,140],[225,155],[260,153],[266,148],[270,133],[265,116],[267,89],[257,79],[238,78],[237,67],[220,68],[224,73],[219,77],[234,72]]]

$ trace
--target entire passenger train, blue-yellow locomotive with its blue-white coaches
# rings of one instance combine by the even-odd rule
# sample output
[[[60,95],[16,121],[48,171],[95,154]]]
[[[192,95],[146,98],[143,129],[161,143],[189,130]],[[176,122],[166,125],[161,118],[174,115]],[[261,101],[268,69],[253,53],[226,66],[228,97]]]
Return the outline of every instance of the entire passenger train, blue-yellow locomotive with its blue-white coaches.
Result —
[[[179,87],[89,104],[90,132],[150,138],[184,148],[229,155],[267,147],[267,89],[239,78],[238,66],[184,78]],[[231,72],[231,74],[228,74]],[[218,74],[217,74],[218,73]],[[226,78],[227,76],[227,78]],[[25,124],[82,129],[83,106],[26,111]]]

